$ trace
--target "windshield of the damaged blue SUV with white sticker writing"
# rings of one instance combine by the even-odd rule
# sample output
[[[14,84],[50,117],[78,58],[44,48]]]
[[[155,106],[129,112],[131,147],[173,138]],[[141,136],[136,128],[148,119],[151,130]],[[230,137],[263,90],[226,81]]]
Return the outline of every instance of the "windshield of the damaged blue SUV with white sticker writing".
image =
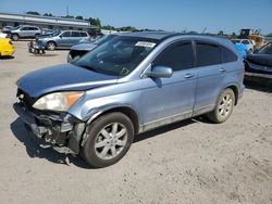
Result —
[[[156,44],[154,39],[116,36],[73,64],[107,75],[126,76],[151,52]]]

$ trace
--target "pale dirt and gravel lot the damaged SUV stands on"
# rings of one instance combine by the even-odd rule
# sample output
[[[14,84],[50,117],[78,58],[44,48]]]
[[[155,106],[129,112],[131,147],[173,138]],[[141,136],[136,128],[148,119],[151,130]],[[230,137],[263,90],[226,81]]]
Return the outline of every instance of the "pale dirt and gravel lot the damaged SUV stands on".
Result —
[[[272,93],[250,86],[222,125],[195,118],[136,138],[103,169],[42,150],[12,110],[15,81],[67,51],[0,60],[0,203],[272,203]],[[35,86],[35,85],[34,85]]]

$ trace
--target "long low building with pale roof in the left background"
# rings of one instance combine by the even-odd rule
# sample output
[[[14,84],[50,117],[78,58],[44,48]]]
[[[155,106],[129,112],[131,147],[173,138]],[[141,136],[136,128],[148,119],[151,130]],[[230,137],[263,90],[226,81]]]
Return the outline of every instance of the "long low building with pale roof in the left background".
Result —
[[[20,25],[33,25],[40,27],[40,29],[76,29],[88,31],[89,34],[94,34],[98,29],[96,26],[90,25],[89,22],[82,20],[0,13],[0,28],[4,26],[16,27]]]

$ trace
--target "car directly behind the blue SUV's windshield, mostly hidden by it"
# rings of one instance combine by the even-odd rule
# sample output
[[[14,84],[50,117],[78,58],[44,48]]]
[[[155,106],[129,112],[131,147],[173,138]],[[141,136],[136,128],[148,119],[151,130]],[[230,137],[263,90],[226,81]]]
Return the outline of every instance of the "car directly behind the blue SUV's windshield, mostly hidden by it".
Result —
[[[106,36],[102,36],[94,41],[81,42],[78,44],[71,47],[70,52],[67,54],[67,63],[71,63],[75,60],[78,60],[84,54],[86,54],[90,50],[95,49],[99,44],[106,42],[107,40],[112,39],[114,36],[116,36],[116,35],[106,35]]]

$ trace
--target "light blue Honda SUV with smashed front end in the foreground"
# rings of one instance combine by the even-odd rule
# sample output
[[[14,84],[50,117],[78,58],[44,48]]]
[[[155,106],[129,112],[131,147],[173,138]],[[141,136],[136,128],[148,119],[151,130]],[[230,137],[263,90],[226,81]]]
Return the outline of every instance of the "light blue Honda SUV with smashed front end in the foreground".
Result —
[[[55,150],[104,167],[126,154],[137,133],[202,114],[225,122],[243,79],[243,59],[226,39],[121,34],[73,64],[22,77],[14,109]]]

